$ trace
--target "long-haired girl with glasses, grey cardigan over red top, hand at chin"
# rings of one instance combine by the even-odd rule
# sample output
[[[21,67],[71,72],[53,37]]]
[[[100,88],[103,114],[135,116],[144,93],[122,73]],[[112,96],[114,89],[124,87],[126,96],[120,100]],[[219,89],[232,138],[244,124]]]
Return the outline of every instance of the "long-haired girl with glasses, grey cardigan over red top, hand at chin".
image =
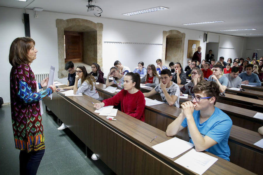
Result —
[[[141,83],[144,86],[156,87],[160,83],[160,77],[153,64],[147,67],[147,74],[141,78]]]

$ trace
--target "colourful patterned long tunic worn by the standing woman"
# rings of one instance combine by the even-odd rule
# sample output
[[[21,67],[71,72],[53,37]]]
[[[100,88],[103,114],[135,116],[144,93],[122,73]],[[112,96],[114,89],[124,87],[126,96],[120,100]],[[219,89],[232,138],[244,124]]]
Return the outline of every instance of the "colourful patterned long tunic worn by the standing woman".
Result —
[[[39,88],[42,88],[40,83]],[[39,100],[52,88],[37,92],[37,82],[28,64],[12,67],[10,72],[11,116],[15,148],[38,151],[45,148]]]

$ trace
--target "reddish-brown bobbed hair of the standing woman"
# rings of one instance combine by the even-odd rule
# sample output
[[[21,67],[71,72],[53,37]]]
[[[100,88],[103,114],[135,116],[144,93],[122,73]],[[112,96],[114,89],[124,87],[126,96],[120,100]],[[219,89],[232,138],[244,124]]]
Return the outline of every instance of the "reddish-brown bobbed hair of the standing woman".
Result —
[[[35,41],[29,37],[19,37],[16,38],[11,46],[9,51],[9,63],[12,66],[20,64],[28,64],[28,52],[34,47]]]

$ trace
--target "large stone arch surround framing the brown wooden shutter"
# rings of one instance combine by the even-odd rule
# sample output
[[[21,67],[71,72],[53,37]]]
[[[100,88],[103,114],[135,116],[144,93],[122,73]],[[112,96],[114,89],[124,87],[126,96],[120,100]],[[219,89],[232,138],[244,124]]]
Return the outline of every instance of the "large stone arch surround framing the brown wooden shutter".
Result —
[[[80,18],[57,19],[56,27],[58,30],[58,78],[68,77],[68,72],[64,69],[64,31],[83,32],[83,62],[89,65],[96,62],[102,67],[102,23]]]

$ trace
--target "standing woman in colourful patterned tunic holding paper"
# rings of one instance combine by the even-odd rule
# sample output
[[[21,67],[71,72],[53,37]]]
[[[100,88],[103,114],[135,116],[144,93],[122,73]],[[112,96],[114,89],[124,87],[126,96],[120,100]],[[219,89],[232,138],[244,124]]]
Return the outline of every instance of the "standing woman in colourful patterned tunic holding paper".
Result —
[[[9,53],[11,118],[15,148],[20,150],[20,174],[37,174],[45,152],[41,114],[41,100],[56,90],[51,85],[46,90],[48,78],[37,83],[30,67],[36,59],[35,41],[29,37],[16,38]]]

